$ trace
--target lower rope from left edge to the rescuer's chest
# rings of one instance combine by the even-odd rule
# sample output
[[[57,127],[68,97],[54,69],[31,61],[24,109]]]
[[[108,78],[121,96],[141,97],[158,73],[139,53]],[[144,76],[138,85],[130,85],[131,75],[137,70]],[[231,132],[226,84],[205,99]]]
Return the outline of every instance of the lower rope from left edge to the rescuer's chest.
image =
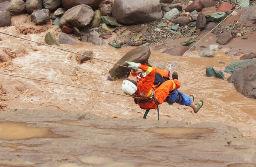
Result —
[[[112,93],[112,92],[106,92],[106,91],[99,91],[99,90],[90,89],[90,88],[84,88],[84,87],[80,87],[80,86],[73,86],[73,85],[67,85],[67,84],[62,84],[62,83],[57,83],[57,82],[44,81],[44,80],[41,80],[41,79],[34,79],[34,78],[29,78],[29,77],[24,77],[24,76],[17,76],[17,75],[12,75],[12,74],[5,74],[5,73],[1,73],[1,72],[0,72],[0,74],[2,74],[2,75],[7,75],[7,76],[14,76],[14,77],[23,78],[23,79],[30,79],[30,80],[34,80],[34,81],[47,82],[47,83],[52,83],[52,84],[57,84],[57,85],[69,86],[69,87],[73,87],[73,88],[81,88],[81,89],[86,89],[86,90],[90,90],[90,91],[97,91],[97,92],[102,92],[102,93],[109,93],[109,94],[114,94],[114,95],[126,96],[126,97],[132,97],[132,98],[137,98],[137,99],[139,99],[138,97],[123,95],[123,94],[119,94],[119,93]]]

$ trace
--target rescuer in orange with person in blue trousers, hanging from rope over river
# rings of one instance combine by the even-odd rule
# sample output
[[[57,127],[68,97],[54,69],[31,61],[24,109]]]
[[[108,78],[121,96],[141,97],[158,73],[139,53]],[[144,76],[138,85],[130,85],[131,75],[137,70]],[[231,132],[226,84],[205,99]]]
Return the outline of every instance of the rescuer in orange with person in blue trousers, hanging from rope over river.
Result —
[[[187,96],[186,94],[177,91],[180,88],[180,82],[178,81],[177,72],[172,74],[172,80],[169,79],[169,72],[162,71],[155,67],[149,67],[135,62],[127,62],[128,67],[132,68],[130,76],[122,83],[122,91],[126,95],[134,96],[137,100],[137,104],[142,109],[146,109],[146,112],[150,109],[157,109],[158,105],[163,102],[173,104],[174,102],[180,105],[186,105],[197,113],[203,106],[204,102],[200,100],[197,104],[194,103],[194,96]],[[146,75],[137,77],[138,71],[135,69],[141,69]],[[159,82],[159,83],[157,83]],[[146,114],[143,118],[146,117]],[[159,119],[159,117],[158,117]]]

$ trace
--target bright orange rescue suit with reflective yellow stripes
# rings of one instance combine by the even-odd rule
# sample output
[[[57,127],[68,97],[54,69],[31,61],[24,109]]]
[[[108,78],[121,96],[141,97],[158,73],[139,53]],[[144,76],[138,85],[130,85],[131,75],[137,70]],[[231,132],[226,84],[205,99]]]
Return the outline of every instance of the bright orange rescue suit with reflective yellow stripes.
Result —
[[[147,74],[145,78],[138,81],[138,90],[134,93],[141,98],[138,100],[138,105],[140,105],[140,108],[142,109],[157,109],[155,102],[149,99],[152,93],[154,94],[154,98],[160,104],[162,104],[166,97],[169,95],[170,91],[180,88],[180,82],[177,79],[174,79],[163,82],[160,87],[154,90],[152,89],[152,86],[154,85],[155,73],[158,72],[157,70],[159,69],[155,67],[149,67],[147,65],[140,65],[139,68]],[[146,99],[149,99],[149,101],[146,103],[140,102],[141,100]]]

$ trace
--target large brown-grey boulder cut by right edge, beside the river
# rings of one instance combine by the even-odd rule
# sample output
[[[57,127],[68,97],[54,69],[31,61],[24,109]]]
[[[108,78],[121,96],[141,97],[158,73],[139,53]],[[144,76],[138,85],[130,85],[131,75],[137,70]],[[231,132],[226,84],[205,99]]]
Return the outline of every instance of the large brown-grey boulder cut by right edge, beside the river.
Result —
[[[234,83],[236,91],[256,99],[256,60],[235,71],[227,80]]]

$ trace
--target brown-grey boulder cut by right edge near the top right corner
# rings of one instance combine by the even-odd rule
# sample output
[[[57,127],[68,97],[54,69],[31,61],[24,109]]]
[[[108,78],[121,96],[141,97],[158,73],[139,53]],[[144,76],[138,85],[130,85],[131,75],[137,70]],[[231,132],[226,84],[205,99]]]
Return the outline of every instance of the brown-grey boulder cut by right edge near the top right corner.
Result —
[[[239,19],[248,24],[256,23],[256,5],[245,8],[240,14]]]

